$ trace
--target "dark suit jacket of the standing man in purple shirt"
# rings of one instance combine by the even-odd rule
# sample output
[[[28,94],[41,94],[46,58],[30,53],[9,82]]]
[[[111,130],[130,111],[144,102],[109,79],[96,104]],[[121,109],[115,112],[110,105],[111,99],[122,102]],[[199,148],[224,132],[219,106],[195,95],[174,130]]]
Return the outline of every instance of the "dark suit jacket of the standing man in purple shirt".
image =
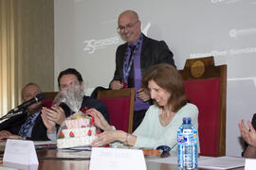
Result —
[[[113,80],[123,80],[123,62],[126,49],[127,42],[119,45],[117,49],[116,71]],[[174,55],[168,48],[167,44],[163,41],[155,41],[143,35],[140,53],[141,76],[143,76],[150,67],[162,62],[174,65]]]

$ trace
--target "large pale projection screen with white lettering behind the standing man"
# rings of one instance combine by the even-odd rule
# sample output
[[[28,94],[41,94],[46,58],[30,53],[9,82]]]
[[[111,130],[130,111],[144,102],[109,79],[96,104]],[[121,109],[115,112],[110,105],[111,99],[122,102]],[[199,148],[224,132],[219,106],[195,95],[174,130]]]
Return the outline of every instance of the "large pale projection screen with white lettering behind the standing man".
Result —
[[[241,155],[237,124],[256,112],[255,0],[55,0],[54,9],[56,91],[57,76],[69,67],[82,73],[88,89],[108,86],[125,9],[137,11],[145,35],[167,42],[178,69],[207,56],[228,64],[227,155]]]

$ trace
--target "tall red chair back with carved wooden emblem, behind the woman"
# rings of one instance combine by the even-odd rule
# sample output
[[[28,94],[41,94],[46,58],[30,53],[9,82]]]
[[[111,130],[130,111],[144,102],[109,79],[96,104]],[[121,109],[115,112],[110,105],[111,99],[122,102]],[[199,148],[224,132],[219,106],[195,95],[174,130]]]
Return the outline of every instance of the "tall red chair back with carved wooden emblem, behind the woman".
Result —
[[[197,106],[200,155],[226,155],[227,65],[213,57],[187,59],[179,73],[190,102]]]

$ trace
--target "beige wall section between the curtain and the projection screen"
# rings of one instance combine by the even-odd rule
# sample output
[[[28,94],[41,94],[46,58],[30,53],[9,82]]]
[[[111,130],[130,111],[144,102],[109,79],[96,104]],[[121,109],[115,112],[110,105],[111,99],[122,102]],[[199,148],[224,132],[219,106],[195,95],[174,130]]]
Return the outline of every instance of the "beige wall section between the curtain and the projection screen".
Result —
[[[22,84],[36,82],[43,91],[54,89],[53,0],[16,0],[20,25]]]

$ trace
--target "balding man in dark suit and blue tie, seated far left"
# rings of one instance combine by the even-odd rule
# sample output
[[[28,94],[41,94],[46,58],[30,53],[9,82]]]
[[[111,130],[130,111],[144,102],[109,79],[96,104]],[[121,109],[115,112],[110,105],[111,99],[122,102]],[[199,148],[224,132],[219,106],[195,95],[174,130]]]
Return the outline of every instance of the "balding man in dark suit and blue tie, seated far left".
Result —
[[[28,83],[22,90],[22,102],[26,102],[41,93],[39,86]],[[27,108],[27,112],[10,117],[0,124],[0,139],[28,139],[47,141],[46,127],[41,117],[42,102]]]

